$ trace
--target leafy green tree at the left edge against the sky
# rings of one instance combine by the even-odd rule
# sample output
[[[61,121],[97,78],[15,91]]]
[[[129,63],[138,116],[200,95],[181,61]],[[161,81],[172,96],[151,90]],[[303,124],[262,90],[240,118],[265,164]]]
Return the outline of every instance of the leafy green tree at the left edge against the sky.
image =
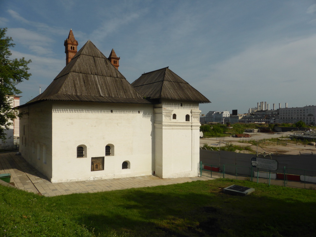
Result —
[[[10,59],[10,47],[14,47],[12,38],[5,34],[7,28],[0,28],[0,139],[5,140],[5,130],[9,129],[12,120],[18,115],[10,106],[8,95],[20,94],[16,85],[31,76],[27,64],[31,60]]]

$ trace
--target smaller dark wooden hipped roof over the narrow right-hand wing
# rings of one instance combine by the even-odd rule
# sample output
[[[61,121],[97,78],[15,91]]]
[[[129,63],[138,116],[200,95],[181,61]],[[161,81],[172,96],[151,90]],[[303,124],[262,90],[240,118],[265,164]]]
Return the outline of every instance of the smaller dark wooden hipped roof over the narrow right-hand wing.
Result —
[[[144,73],[131,85],[146,99],[210,103],[210,100],[168,67]]]

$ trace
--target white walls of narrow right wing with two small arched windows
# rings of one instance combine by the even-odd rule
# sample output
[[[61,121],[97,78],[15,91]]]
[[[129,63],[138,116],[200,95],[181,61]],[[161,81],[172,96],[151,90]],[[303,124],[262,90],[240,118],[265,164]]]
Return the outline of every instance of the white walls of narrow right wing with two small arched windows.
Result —
[[[161,178],[197,176],[201,112],[198,103],[163,100],[154,110],[155,174]],[[190,121],[185,121],[187,114]]]

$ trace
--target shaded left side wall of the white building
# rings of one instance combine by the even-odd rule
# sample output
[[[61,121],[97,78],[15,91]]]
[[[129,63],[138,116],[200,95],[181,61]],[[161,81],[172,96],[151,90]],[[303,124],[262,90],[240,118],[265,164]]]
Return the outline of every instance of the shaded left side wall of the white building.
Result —
[[[20,108],[20,152],[33,167],[52,178],[52,103]]]

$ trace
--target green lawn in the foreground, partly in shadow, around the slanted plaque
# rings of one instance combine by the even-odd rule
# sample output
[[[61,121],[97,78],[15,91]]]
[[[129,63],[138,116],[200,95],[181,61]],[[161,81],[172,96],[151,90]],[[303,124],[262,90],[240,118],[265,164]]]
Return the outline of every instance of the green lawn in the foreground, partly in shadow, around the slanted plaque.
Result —
[[[232,184],[255,192],[222,193]],[[57,197],[0,186],[0,236],[315,236],[315,202],[315,190],[230,179]]]

